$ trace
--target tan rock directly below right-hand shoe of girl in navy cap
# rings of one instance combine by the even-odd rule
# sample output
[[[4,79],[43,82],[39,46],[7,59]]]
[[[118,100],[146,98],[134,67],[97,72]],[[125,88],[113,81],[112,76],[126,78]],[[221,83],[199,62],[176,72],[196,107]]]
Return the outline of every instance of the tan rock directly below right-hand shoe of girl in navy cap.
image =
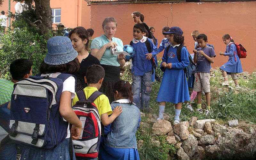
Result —
[[[176,126],[173,127],[174,133],[176,133],[182,140],[185,140],[189,136],[188,132],[188,121],[180,122]]]

